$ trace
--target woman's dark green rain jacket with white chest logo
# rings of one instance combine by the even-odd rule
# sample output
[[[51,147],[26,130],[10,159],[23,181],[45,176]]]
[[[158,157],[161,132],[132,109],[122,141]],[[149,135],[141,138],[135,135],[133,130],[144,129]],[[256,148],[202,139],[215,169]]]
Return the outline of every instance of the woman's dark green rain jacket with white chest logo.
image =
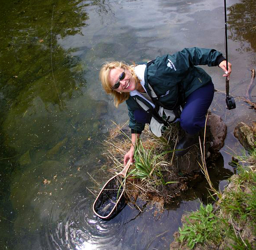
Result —
[[[226,60],[222,54],[214,49],[205,48],[184,48],[173,55],[164,55],[145,64],[144,89],[151,95],[150,87],[157,95],[160,106],[172,110],[177,105],[185,103],[186,98],[196,89],[208,84],[211,81],[205,70],[197,65],[218,66]],[[150,86],[149,86],[150,85]],[[141,133],[145,124],[138,123],[134,118],[134,111],[141,109],[135,98],[144,102],[149,108],[154,108],[149,102],[139,96],[139,93],[126,100],[128,106],[131,133]],[[152,101],[154,103],[154,101]]]

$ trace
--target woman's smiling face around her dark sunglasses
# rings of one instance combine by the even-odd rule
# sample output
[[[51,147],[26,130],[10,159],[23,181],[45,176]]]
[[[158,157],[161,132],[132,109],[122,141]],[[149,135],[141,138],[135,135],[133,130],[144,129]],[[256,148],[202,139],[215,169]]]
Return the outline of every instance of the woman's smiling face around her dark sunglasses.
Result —
[[[117,92],[131,92],[134,89],[137,89],[136,82],[134,77],[131,76],[130,72],[122,68],[113,68],[109,72],[109,82],[113,87],[116,82],[119,80],[119,76],[125,71],[125,78],[120,80],[120,85],[117,89],[114,89]]]

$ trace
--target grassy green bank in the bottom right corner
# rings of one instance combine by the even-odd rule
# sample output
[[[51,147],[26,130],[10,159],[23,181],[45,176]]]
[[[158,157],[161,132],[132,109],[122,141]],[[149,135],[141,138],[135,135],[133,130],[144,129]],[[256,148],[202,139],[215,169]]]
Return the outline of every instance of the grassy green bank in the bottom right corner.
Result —
[[[211,204],[192,212],[179,228],[178,241],[190,249],[255,249],[256,247],[256,149],[248,161],[237,163],[237,175],[221,194],[216,211]],[[243,158],[243,160],[245,160]],[[245,162],[245,161],[244,161]]]

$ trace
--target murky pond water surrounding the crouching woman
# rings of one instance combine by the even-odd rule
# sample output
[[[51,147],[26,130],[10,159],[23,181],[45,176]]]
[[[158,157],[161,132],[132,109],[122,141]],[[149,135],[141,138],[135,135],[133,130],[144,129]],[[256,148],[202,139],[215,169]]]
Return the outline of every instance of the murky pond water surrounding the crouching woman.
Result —
[[[244,96],[256,67],[255,0],[227,1],[230,93]],[[198,184],[155,215],[154,206],[126,206],[103,222],[92,212],[94,179],[109,177],[100,151],[112,121],[128,119],[99,83],[107,60],[141,61],[183,47],[224,50],[224,3],[210,0],[2,0],[0,20],[0,249],[169,249],[185,211],[198,199]],[[218,67],[204,69],[225,90]],[[255,95],[253,89],[251,95]],[[254,100],[255,101],[255,100]],[[238,121],[255,112],[236,99],[226,110],[216,93],[211,110],[227,123],[220,165],[240,153]],[[223,186],[226,170],[212,173]],[[89,175],[89,174],[90,175]]]

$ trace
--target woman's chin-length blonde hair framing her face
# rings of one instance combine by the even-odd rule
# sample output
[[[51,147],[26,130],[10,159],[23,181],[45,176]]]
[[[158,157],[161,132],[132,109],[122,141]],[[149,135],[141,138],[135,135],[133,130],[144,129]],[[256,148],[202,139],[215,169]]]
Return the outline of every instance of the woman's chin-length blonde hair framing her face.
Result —
[[[121,69],[121,68],[124,69],[125,73],[128,74],[130,77],[133,77],[135,79],[135,83],[137,84],[138,82],[140,82],[140,80],[138,79],[138,76],[136,76],[135,74],[134,66],[135,64],[132,66],[129,66],[124,61],[121,61],[121,62],[113,61],[113,62],[106,62],[99,71],[99,79],[101,81],[102,87],[107,94],[112,95],[114,97],[115,107],[118,107],[120,103],[122,103],[123,101],[126,101],[129,98],[130,94],[129,92],[120,94],[119,92],[111,88],[112,86],[110,85],[110,81],[109,81],[110,70]]]

